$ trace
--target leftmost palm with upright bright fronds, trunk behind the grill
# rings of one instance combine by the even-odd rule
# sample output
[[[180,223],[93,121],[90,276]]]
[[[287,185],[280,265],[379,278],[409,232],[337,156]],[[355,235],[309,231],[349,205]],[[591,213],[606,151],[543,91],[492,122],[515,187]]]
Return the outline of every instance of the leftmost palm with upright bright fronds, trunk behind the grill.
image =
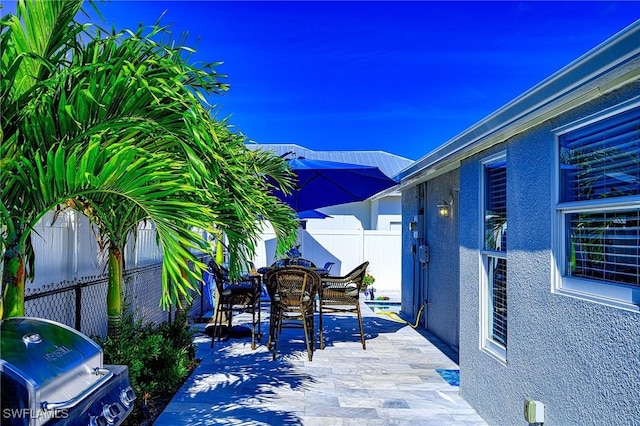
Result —
[[[25,19],[24,28],[20,17],[27,6],[33,16],[43,17],[47,25]],[[28,156],[31,144],[25,144],[19,132],[18,115],[31,90],[45,81],[56,64],[65,60],[67,52],[75,44],[75,36],[81,26],[67,28],[80,10],[80,1],[37,2],[23,1],[17,5],[17,15],[4,16],[0,20],[0,171],[8,172],[11,163]],[[46,151],[45,151],[46,152]],[[9,176],[11,177],[11,175]],[[27,278],[33,279],[33,248],[25,234],[38,217],[38,207],[31,203],[28,193],[22,188],[11,192],[7,178],[3,176],[0,206],[1,242],[3,256],[2,316],[23,313],[24,286]],[[35,190],[39,187],[34,187]]]

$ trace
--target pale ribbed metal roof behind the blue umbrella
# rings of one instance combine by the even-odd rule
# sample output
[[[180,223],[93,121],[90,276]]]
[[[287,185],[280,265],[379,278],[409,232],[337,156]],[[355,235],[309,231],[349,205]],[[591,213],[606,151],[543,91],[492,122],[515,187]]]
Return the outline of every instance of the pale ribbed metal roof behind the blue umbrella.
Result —
[[[413,160],[390,154],[385,151],[314,151],[296,144],[258,144],[248,143],[249,149],[272,151],[276,155],[293,152],[288,157],[304,157],[311,160],[336,161],[340,163],[376,166],[382,173],[393,178],[401,170],[413,164]]]

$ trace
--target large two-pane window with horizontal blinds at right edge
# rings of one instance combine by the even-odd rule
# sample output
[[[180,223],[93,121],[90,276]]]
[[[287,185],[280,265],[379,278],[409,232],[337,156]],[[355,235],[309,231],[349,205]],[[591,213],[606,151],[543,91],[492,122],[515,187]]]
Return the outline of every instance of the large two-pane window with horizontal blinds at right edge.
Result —
[[[640,107],[558,136],[556,290],[640,305]]]

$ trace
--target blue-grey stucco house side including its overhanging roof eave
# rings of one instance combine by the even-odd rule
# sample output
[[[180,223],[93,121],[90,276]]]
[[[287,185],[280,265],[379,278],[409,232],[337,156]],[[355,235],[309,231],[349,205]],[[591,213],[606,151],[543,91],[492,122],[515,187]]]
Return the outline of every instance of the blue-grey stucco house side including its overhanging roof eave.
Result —
[[[399,175],[403,310],[415,314],[412,292],[423,291],[416,284],[408,226],[424,208],[432,253],[428,283],[437,283],[428,298],[436,301],[436,288],[443,300],[459,298],[460,392],[489,424],[526,425],[524,403],[531,398],[545,405],[545,425],[640,425],[640,311],[554,287],[554,247],[560,246],[554,232],[560,220],[554,129],[630,100],[640,102],[639,37],[640,21]],[[507,167],[505,359],[483,349],[481,312],[481,173],[483,161],[498,153],[506,155]],[[448,228],[429,209],[456,181],[457,208]],[[456,239],[457,259],[449,254]],[[434,258],[436,252],[447,253],[448,267]],[[446,331],[452,329],[451,312],[432,308],[431,313],[426,326],[455,347]]]

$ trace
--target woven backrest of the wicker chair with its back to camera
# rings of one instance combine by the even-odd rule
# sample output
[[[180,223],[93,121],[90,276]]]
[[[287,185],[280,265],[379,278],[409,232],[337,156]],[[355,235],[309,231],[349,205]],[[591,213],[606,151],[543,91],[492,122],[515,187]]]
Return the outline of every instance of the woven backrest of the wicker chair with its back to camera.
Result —
[[[302,266],[276,268],[266,275],[267,287],[281,305],[302,306],[314,303],[320,276]]]

